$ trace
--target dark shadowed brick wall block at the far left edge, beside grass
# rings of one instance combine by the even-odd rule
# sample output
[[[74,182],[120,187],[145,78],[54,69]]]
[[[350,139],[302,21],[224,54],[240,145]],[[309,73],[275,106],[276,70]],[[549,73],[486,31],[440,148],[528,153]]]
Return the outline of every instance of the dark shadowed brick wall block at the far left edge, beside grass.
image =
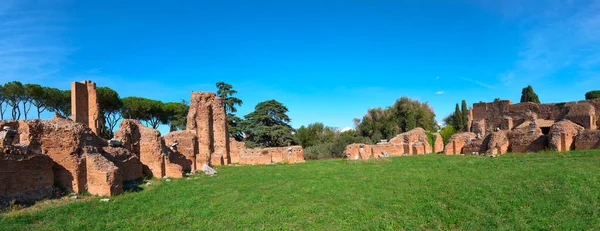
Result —
[[[0,207],[11,201],[26,203],[51,197],[52,165],[52,159],[46,155],[0,152]]]

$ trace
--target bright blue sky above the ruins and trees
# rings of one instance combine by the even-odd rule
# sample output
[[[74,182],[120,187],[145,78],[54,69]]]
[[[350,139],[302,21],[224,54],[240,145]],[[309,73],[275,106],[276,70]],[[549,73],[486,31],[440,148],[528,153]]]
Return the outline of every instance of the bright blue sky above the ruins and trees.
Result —
[[[225,81],[239,115],[276,99],[294,127],[401,96],[441,121],[528,84],[543,102],[600,89],[600,2],[0,1],[0,82],[85,79],[165,102]]]

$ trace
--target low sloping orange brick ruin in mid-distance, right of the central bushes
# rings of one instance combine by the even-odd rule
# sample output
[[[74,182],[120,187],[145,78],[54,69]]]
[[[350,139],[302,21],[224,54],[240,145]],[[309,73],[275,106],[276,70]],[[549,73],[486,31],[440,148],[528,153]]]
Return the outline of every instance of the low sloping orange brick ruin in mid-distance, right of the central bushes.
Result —
[[[346,146],[344,152],[348,159],[366,160],[383,156],[423,155],[443,151],[443,141],[439,134],[435,134],[435,143],[429,144],[427,133],[422,128],[397,135],[389,141],[375,145],[351,144]]]

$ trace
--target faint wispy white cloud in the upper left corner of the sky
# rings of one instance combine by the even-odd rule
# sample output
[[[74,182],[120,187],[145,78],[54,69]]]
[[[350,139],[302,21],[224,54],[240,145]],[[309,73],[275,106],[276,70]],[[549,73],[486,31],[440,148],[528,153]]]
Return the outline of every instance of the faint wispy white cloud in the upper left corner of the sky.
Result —
[[[41,5],[0,1],[0,82],[52,76],[61,70],[72,50],[60,38],[64,18]],[[39,9],[26,8],[31,6]]]

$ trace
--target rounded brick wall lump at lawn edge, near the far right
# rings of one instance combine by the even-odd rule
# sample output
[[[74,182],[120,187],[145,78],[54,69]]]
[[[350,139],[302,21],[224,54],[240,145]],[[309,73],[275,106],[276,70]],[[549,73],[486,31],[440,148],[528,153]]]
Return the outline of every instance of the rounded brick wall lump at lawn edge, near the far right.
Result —
[[[575,136],[584,128],[569,120],[562,120],[550,128],[548,146],[556,151],[570,151],[575,147]]]

